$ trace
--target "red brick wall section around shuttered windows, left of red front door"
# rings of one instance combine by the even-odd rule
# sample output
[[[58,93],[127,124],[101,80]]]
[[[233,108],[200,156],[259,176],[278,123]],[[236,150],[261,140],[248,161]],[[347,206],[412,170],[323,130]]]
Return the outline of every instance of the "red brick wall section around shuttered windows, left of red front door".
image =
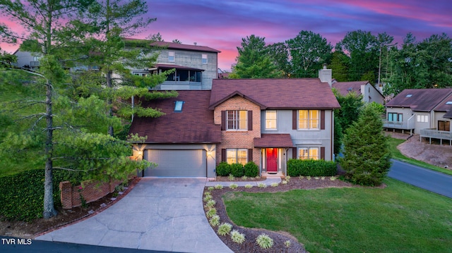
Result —
[[[254,138],[261,137],[261,108],[253,102],[240,96],[235,96],[215,107],[214,122],[220,125],[221,111],[246,110],[253,111],[253,130],[251,131],[222,131],[221,143],[217,144],[217,165],[221,162],[221,149],[254,149]],[[260,166],[261,149],[253,150],[253,161]]]

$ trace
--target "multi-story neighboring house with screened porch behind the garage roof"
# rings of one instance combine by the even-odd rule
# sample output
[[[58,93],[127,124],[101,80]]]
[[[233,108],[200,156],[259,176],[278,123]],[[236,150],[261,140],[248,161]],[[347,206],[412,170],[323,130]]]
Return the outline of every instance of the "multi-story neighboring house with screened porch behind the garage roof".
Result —
[[[149,68],[133,69],[135,75],[157,74],[175,69],[167,80],[155,90],[210,90],[212,80],[217,78],[218,53],[210,47],[174,42],[153,42],[160,54],[157,63]]]

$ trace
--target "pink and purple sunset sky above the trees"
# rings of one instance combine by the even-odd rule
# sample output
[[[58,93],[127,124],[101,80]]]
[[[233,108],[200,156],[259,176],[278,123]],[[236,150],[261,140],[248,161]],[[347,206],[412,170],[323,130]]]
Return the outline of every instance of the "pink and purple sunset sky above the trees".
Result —
[[[249,35],[273,44],[309,30],[333,46],[354,30],[386,32],[399,44],[408,32],[417,40],[443,32],[452,36],[451,0],[149,0],[148,8],[147,15],[157,21],[136,38],[160,32],[168,42],[179,39],[183,44],[196,42],[218,49],[222,70],[230,70],[237,47]],[[0,47],[9,52],[18,48]]]

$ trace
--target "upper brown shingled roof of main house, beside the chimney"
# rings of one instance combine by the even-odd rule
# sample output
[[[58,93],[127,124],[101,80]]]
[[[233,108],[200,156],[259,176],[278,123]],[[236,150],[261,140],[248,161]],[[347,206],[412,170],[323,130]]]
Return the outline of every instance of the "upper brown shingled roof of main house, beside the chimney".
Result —
[[[318,78],[214,79],[210,109],[239,95],[261,109],[335,109],[340,105],[330,86]]]

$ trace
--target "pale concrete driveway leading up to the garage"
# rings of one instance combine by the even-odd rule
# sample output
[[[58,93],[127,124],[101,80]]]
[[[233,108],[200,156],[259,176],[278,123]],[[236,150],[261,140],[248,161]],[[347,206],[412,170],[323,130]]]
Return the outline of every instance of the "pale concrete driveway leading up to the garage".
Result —
[[[206,178],[142,178],[102,213],[36,240],[153,249],[168,252],[232,252],[203,211]]]

